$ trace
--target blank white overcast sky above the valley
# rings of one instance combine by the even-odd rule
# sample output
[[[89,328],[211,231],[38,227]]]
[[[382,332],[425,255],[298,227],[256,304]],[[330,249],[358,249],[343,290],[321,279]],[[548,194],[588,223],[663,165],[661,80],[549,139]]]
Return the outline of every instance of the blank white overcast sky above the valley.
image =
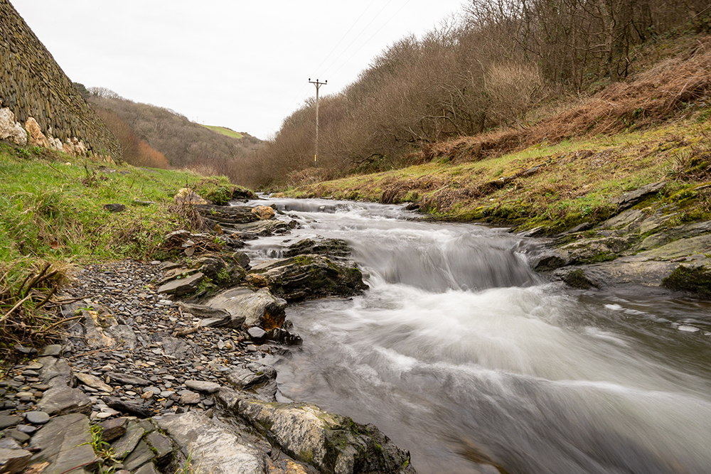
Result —
[[[266,139],[466,0],[10,1],[71,80]]]

